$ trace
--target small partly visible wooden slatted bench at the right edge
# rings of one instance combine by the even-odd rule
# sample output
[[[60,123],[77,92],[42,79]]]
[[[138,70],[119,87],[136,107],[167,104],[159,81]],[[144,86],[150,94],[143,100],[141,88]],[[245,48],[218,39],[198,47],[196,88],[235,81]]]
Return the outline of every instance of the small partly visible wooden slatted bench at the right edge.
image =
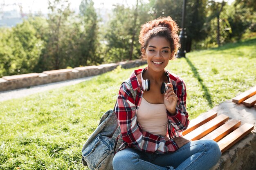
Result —
[[[256,86],[234,97],[232,102],[236,104],[243,103],[247,107],[254,106],[256,104]]]

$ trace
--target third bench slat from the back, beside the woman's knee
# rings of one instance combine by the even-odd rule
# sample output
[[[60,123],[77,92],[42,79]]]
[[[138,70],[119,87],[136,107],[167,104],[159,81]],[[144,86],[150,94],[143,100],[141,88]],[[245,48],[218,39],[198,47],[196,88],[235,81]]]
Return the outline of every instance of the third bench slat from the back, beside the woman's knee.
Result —
[[[227,123],[225,123],[224,125],[217,128],[216,130],[213,130],[211,133],[209,133],[208,135],[206,135],[205,137],[203,137],[200,140],[211,139],[211,140],[217,142],[221,138],[228,135],[230,132],[237,129],[240,125],[241,125],[240,120],[232,119],[232,120],[228,121]]]

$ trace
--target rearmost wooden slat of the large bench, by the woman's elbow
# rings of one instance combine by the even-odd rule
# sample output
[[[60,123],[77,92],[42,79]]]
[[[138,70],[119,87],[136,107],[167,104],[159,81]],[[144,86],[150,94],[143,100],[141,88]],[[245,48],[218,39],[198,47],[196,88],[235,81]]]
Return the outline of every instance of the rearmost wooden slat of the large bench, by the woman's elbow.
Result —
[[[191,120],[189,122],[189,126],[186,130],[184,130],[182,132],[183,135],[188,134],[189,132],[191,132],[192,130],[198,128],[199,126],[205,124],[207,121],[210,121],[211,119],[213,119],[214,117],[217,116],[217,112],[215,111],[209,111],[206,113],[203,113],[202,115],[199,115],[197,118]]]

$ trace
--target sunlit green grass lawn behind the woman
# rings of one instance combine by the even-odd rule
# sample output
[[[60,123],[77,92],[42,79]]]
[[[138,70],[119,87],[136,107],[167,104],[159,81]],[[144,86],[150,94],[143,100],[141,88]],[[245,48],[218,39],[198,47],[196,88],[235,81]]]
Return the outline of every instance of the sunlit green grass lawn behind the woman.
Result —
[[[256,85],[256,38],[186,56],[167,69],[186,82],[190,119]],[[0,169],[84,169],[81,148],[132,70],[0,102]]]

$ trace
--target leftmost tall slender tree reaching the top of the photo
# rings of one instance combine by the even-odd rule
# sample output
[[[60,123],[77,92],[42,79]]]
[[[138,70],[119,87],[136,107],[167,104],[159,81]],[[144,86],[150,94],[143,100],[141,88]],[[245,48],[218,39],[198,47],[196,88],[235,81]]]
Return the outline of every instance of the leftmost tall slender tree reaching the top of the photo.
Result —
[[[49,32],[47,53],[44,54],[43,62],[47,69],[59,69],[65,67],[65,57],[68,57],[65,55],[67,50],[64,48],[67,42],[65,33],[69,29],[68,18],[73,12],[70,10],[68,0],[54,0],[49,1],[48,4],[50,10],[47,19]]]

